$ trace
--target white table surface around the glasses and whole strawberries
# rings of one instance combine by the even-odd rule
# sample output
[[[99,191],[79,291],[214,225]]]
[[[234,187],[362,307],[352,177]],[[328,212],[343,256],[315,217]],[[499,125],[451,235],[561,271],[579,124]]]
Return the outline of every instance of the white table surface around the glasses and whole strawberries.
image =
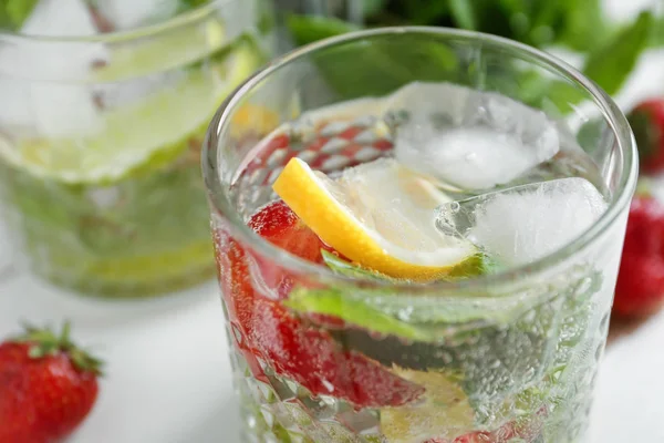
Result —
[[[664,92],[664,51],[642,60],[618,101],[631,106],[656,92]],[[98,403],[70,443],[238,441],[214,282],[164,299],[113,302],[61,292],[28,275],[0,284],[0,337],[15,332],[21,319],[65,318],[74,337],[107,361]],[[664,312],[621,332],[601,367],[592,443],[664,442]]]

